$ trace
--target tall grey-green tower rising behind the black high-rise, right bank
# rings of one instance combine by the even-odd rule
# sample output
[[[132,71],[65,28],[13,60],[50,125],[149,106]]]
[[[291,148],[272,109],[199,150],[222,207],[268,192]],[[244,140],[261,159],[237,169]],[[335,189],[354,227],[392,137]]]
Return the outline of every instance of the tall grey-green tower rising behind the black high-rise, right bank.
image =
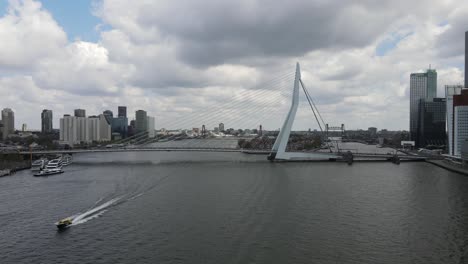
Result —
[[[421,99],[432,101],[437,94],[437,72],[429,69],[425,73],[410,76],[410,137],[418,147],[419,103]]]

